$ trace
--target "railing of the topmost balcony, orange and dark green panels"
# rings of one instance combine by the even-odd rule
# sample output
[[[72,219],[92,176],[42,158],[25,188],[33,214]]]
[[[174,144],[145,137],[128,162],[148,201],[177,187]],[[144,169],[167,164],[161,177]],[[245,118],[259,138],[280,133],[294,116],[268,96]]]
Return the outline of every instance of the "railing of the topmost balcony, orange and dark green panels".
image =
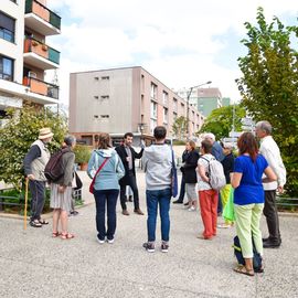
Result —
[[[34,14],[39,15],[42,18],[44,21],[49,22],[56,29],[61,29],[61,18],[47,9],[45,6],[40,3],[36,0],[26,0],[25,1],[25,13],[31,13],[33,12]]]

